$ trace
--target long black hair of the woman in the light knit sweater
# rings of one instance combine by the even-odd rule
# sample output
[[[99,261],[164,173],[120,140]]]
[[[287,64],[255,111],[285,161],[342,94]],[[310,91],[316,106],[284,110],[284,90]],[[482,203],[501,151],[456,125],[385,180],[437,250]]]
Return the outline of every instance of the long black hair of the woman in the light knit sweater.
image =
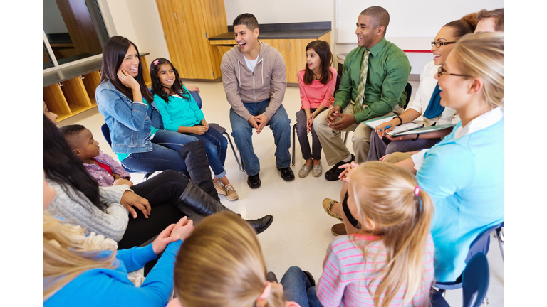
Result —
[[[84,208],[90,209],[81,199],[71,193],[71,188],[79,190],[93,205],[106,212],[106,204],[100,200],[99,184],[85,170],[82,161],[75,156],[59,129],[43,117],[43,161],[46,178],[61,185],[65,193]]]

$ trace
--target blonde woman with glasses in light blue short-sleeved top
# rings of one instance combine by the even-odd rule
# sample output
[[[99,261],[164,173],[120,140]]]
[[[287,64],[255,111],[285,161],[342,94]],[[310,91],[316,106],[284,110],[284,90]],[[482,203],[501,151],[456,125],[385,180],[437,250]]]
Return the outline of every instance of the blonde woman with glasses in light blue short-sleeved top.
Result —
[[[504,221],[504,33],[454,44],[436,78],[441,105],[458,112],[454,131],[397,164],[434,200],[435,279],[455,281],[476,237]]]

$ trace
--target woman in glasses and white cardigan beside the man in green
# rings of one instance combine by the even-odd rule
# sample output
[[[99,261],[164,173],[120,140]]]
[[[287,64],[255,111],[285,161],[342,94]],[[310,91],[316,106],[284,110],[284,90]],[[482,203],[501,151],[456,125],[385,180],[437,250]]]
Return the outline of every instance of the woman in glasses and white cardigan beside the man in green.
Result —
[[[439,94],[442,90],[437,85],[434,75],[437,74],[439,66],[444,63],[454,48],[454,43],[467,33],[473,33],[475,27],[476,21],[467,15],[462,19],[451,21],[441,28],[435,36],[435,40],[431,42],[433,60],[425,65],[420,75],[420,86],[414,100],[400,116],[393,117],[389,122],[376,126],[370,135],[370,151],[367,161],[377,161],[385,155],[397,151],[407,152],[430,148],[452,131],[452,128],[448,128],[427,134],[407,134],[394,137],[387,134],[396,126],[412,122],[419,117],[422,117],[425,126],[459,122],[459,117],[454,109],[442,107],[439,104]]]

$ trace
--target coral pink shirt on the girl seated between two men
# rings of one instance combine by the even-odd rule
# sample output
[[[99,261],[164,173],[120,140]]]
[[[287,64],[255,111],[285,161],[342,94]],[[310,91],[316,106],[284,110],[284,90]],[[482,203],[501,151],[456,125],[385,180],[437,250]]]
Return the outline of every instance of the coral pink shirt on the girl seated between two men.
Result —
[[[334,88],[336,86],[336,70],[330,68],[332,77],[327,84],[321,84],[319,80],[313,80],[311,85],[304,83],[304,70],[298,72],[298,83],[300,85],[301,109],[317,109],[321,104],[325,109],[333,106]]]

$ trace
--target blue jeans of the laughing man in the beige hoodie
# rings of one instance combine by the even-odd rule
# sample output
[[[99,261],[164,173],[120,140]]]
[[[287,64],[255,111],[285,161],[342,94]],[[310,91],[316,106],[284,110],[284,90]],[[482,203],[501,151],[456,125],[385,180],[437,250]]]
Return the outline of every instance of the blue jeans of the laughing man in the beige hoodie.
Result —
[[[259,116],[264,113],[269,104],[270,99],[266,99],[262,102],[250,102],[243,105],[252,116]],[[232,108],[230,108],[230,124],[231,136],[234,136],[245,171],[248,176],[254,176],[260,172],[260,161],[259,157],[254,154],[253,126],[243,117],[240,117]],[[278,168],[288,168],[291,164],[291,154],[288,152],[291,147],[291,119],[288,119],[283,104],[279,106],[276,114],[273,114],[266,126],[270,126],[273,131],[273,141],[277,146],[275,153],[276,166]]]

